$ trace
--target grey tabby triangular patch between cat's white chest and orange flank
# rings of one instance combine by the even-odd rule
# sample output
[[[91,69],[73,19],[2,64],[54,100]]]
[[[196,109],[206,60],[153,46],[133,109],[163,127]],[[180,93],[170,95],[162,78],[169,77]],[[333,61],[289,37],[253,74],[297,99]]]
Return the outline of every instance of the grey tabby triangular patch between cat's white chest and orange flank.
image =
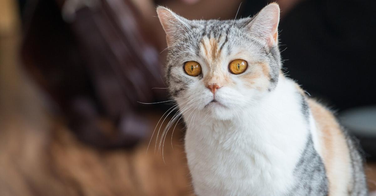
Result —
[[[288,196],[326,196],[328,180],[324,163],[314,148],[312,136],[309,134],[306,146],[294,170],[296,184]]]

